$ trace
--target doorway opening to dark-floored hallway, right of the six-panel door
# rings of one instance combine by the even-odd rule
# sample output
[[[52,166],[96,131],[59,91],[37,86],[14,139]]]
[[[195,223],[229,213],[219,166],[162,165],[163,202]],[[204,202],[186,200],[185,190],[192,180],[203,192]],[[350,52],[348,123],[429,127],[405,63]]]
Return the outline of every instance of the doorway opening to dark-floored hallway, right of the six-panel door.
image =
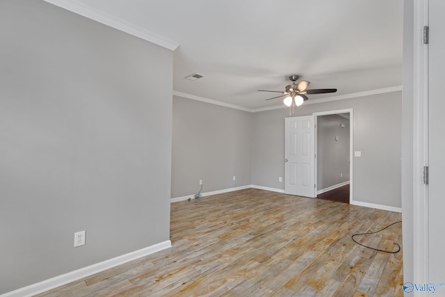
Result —
[[[353,200],[352,109],[314,113],[316,120],[316,198]]]

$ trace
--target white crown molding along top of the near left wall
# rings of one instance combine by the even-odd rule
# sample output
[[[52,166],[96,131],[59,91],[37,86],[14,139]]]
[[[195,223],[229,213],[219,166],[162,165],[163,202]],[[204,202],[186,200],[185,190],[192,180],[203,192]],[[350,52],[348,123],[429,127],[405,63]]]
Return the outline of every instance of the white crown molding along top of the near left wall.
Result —
[[[122,19],[118,19],[117,17],[108,15],[108,13],[104,13],[103,11],[97,10],[90,6],[86,6],[85,4],[80,3],[79,1],[76,0],[44,0],[44,1],[51,3],[55,6],[58,6],[60,8],[70,10],[72,13],[76,13],[78,15],[82,15],[83,17],[87,17],[88,19],[92,19],[96,22],[105,24],[106,26],[111,26],[112,28],[118,29],[119,31],[129,33],[130,35],[136,36],[138,38],[142,38],[143,40],[152,42],[155,45],[165,47],[166,49],[175,51],[175,49],[179,47],[179,43],[177,42],[173,42],[172,40],[163,38],[152,32],[146,31],[145,29],[142,29],[138,26],[129,24],[128,22],[125,22]]]

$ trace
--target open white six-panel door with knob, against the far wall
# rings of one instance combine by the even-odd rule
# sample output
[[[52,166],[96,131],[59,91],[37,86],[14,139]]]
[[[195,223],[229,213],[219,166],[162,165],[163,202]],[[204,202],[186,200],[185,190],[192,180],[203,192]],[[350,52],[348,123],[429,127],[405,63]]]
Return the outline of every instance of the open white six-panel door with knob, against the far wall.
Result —
[[[284,120],[284,193],[316,197],[315,117]]]

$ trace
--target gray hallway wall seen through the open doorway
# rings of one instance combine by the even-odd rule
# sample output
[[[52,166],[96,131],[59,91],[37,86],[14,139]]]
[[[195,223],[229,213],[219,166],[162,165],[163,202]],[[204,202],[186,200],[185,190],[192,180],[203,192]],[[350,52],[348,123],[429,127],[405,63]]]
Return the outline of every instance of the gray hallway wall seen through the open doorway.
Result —
[[[349,113],[346,114],[349,116]],[[344,127],[341,127],[341,125]],[[340,115],[317,117],[317,190],[349,181],[350,125]],[[336,137],[338,136],[338,141]]]

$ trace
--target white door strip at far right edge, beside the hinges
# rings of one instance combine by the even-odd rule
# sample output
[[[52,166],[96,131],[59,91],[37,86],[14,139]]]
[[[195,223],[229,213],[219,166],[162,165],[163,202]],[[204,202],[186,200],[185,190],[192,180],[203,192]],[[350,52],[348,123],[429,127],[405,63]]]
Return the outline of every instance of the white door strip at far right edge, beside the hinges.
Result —
[[[445,1],[429,1],[428,45],[428,253],[430,282],[445,282]],[[440,288],[445,294],[445,288]],[[445,295],[444,295],[445,296]]]

